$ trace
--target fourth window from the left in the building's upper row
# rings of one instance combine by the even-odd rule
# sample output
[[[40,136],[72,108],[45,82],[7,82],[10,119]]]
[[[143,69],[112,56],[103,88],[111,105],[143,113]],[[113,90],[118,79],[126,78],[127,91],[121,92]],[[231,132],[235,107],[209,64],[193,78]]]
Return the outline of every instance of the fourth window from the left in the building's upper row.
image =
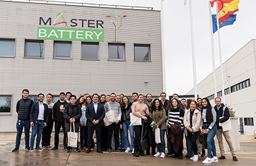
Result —
[[[82,43],[82,59],[99,59],[99,44]]]

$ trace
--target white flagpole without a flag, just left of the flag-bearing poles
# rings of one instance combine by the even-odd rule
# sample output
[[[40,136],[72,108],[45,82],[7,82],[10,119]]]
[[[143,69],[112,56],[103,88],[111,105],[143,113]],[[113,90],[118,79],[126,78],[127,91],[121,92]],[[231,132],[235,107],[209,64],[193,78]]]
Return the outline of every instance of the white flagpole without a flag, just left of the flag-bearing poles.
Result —
[[[192,19],[192,5],[190,0],[190,27],[191,27],[191,42],[192,42],[192,63],[193,63],[193,78],[194,78],[194,100],[197,99],[197,87],[196,87],[196,60],[194,55],[194,27]]]

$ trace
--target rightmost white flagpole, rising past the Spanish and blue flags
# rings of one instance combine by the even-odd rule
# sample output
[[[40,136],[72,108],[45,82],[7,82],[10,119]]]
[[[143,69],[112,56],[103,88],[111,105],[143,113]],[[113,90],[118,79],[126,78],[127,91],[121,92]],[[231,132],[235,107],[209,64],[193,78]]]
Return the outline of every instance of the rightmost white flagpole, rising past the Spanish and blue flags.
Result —
[[[216,2],[216,10],[217,10],[217,31],[218,31],[218,38],[219,38],[219,61],[221,63],[221,85],[222,85],[222,101],[223,104],[226,104],[225,102],[225,91],[224,91],[224,79],[223,79],[223,66],[222,66],[222,55],[221,55],[221,34],[219,32],[219,12],[218,12],[218,1]],[[216,96],[217,97],[217,96]],[[215,98],[216,98],[215,97]]]

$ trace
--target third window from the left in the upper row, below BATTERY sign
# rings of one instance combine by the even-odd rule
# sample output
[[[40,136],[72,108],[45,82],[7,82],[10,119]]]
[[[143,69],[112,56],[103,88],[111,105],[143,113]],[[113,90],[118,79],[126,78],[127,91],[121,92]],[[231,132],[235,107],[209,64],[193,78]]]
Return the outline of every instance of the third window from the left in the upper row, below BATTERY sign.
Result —
[[[71,58],[71,42],[54,42],[54,57]]]

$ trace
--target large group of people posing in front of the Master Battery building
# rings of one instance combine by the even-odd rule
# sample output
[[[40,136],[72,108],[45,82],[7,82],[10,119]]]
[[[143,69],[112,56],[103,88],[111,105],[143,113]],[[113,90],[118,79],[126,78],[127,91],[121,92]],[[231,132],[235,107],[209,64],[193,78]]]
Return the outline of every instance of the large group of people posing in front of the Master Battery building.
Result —
[[[121,150],[131,152],[134,156],[145,156],[151,154],[154,157],[165,158],[165,137],[167,137],[167,156],[183,159],[183,136],[185,136],[186,147],[190,160],[199,160],[199,137],[203,150],[201,157],[208,155],[203,163],[218,162],[225,159],[222,134],[230,147],[233,160],[237,160],[235,149],[229,135],[229,131],[223,131],[221,123],[229,119],[230,114],[227,107],[221,104],[221,98],[215,98],[215,106],[212,108],[207,98],[196,100],[179,100],[179,95],[174,94],[172,100],[166,100],[166,93],[161,93],[160,98],[153,100],[152,94],[144,95],[132,93],[131,98],[127,95],[98,95],[94,93],[76,98],[71,92],[61,92],[60,100],[53,104],[53,95],[38,94],[38,102],[28,98],[29,91],[22,91],[22,98],[17,102],[17,138],[15,149],[19,151],[21,133],[25,130],[25,150],[42,151],[43,149],[58,149],[60,145],[60,129],[64,130],[63,145],[66,152],[71,151],[68,146],[68,132],[80,131],[80,146],[77,139],[76,152],[86,149],[90,153],[94,149],[93,133],[97,140],[97,152],[103,153],[112,149],[116,152]],[[65,100],[66,99],[66,100]],[[153,101],[152,101],[153,100]],[[112,113],[112,114],[111,114]],[[114,120],[109,122],[108,118]],[[136,118],[138,124],[131,124]],[[55,142],[51,148],[51,133],[55,124]],[[29,145],[29,131],[32,127]],[[71,127],[73,126],[73,127]],[[128,133],[129,130],[129,133]],[[214,136],[219,140],[221,156],[217,158],[214,145]],[[34,149],[35,136],[37,136]],[[40,141],[42,136],[42,147]],[[201,140],[201,139],[200,139]],[[130,143],[131,142],[131,143]],[[157,142],[157,143],[156,143]],[[156,151],[157,149],[157,151]]]

